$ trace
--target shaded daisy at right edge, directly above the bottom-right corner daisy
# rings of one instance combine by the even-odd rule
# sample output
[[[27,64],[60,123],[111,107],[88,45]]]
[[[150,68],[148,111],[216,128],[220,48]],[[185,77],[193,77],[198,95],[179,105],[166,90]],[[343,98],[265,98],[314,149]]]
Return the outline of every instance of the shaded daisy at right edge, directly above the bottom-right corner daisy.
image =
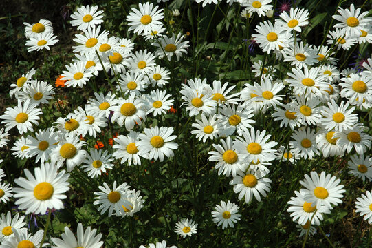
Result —
[[[372,181],[372,161],[370,156],[354,154],[350,157],[351,161],[348,161],[349,174],[362,178],[363,182],[367,178],[370,182]]]

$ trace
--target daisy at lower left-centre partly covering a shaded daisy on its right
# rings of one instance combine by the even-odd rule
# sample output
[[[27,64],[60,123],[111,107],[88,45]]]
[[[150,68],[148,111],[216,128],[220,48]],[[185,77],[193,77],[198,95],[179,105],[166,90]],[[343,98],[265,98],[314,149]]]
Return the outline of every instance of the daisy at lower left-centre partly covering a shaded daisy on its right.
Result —
[[[131,203],[128,200],[125,200],[128,195],[128,190],[130,188],[127,183],[122,183],[116,187],[116,181],[113,182],[113,189],[111,190],[107,183],[103,183],[102,186],[98,186],[101,192],[94,192],[94,197],[96,200],[94,201],[94,205],[100,205],[98,207],[98,211],[100,214],[105,214],[107,209],[109,210],[109,217],[113,214],[115,210],[116,216],[121,216],[122,205],[124,207],[129,208]],[[101,211],[102,210],[102,211]]]

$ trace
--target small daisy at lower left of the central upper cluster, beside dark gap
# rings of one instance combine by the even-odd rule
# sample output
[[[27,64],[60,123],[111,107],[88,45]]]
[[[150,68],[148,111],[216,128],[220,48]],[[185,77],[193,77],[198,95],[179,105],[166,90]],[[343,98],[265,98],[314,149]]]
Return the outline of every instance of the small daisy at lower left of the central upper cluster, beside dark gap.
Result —
[[[206,143],[206,140],[210,138],[217,138],[219,134],[219,120],[216,119],[217,115],[210,115],[207,118],[204,114],[201,114],[201,120],[195,119],[197,123],[193,123],[192,126],[196,128],[196,130],[191,130],[191,134],[196,134],[196,138],[201,141],[203,139],[203,143]]]

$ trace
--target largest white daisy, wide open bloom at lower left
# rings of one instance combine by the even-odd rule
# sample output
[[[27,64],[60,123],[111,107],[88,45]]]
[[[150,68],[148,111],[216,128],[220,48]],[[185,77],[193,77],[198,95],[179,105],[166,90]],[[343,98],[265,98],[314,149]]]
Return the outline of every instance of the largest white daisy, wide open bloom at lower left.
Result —
[[[65,170],[57,172],[57,167],[45,163],[34,169],[35,177],[28,169],[24,170],[26,178],[17,178],[14,183],[20,187],[13,189],[14,198],[19,198],[15,204],[25,214],[45,214],[47,209],[63,209],[62,200],[69,190],[67,182],[69,174]]]

